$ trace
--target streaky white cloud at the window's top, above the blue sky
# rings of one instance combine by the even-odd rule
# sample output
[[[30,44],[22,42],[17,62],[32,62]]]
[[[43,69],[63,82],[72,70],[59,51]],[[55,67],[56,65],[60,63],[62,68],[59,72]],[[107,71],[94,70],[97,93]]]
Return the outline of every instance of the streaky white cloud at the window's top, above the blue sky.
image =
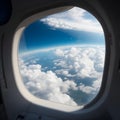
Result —
[[[100,23],[92,15],[91,18],[85,17],[87,11],[74,7],[66,12],[50,15],[41,21],[54,28],[80,30],[87,32],[103,33]]]

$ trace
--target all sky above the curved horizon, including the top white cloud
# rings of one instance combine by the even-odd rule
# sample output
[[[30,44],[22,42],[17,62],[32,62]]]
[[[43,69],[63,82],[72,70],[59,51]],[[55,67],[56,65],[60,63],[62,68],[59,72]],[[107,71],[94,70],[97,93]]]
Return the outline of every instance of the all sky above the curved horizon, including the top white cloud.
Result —
[[[94,16],[74,7],[26,27],[21,36],[19,51],[81,44],[104,45],[104,34]]]

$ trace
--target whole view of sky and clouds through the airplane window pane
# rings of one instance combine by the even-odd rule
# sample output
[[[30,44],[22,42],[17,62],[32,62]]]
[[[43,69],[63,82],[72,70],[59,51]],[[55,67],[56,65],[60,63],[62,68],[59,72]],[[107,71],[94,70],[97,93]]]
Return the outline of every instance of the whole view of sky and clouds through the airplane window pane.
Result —
[[[20,38],[18,58],[20,74],[31,94],[84,106],[101,87],[104,33],[94,16],[73,7],[27,26]]]

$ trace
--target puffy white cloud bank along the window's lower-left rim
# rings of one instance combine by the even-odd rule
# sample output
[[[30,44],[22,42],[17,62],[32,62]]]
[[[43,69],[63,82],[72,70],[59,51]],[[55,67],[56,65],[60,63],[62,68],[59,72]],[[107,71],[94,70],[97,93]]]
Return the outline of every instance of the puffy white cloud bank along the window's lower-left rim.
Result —
[[[69,89],[75,89],[76,83],[70,80],[64,82],[52,71],[43,72],[39,64],[26,65],[23,60],[19,60],[19,63],[25,86],[31,93],[41,99],[67,105],[77,105],[67,94]]]

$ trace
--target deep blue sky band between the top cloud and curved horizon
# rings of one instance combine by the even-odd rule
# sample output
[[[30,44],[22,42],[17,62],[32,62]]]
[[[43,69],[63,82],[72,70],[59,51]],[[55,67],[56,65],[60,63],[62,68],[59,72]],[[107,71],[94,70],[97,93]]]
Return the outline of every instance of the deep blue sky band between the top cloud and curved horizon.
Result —
[[[90,19],[88,14],[85,14],[84,17],[85,19]],[[93,20],[93,16],[91,20]],[[20,38],[19,52],[81,44],[104,45],[104,34],[76,29],[63,29],[61,27],[56,28],[47,24],[47,22],[38,20],[24,30]]]

